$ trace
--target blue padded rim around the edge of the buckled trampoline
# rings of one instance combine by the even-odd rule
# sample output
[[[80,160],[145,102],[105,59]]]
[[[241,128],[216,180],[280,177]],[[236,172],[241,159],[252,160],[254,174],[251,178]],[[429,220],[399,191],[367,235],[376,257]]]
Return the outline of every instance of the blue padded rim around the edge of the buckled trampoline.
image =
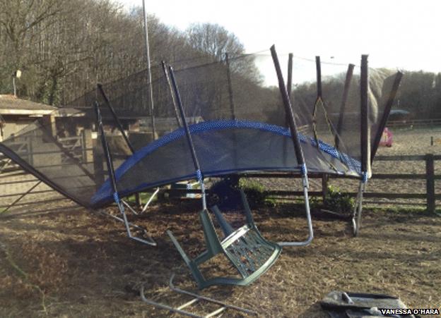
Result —
[[[192,134],[206,132],[209,130],[224,130],[224,129],[232,129],[232,128],[233,129],[247,128],[254,130],[262,130],[265,132],[274,133],[276,135],[291,137],[291,133],[288,128],[283,128],[281,126],[271,125],[268,123],[260,123],[255,121],[221,119],[217,121],[203,121],[201,123],[195,123],[189,126],[190,133]],[[172,133],[168,133],[167,135],[160,137],[160,139],[151,142],[150,144],[146,145],[146,147],[139,149],[137,152],[131,155],[131,157],[126,159],[126,161],[124,161],[124,163],[122,163],[117,170],[115,170],[115,177],[117,181],[119,180],[119,178],[122,178],[122,176],[124,176],[124,173],[127,173],[127,171],[129,171],[134,165],[136,165],[139,161],[141,161],[143,158],[148,156],[148,154],[151,154],[160,147],[164,147],[170,142],[173,142],[181,137],[184,137],[184,135],[185,135],[184,128],[179,128],[173,131]],[[317,143],[312,137],[305,137],[305,135],[302,135],[301,133],[298,133],[298,137],[300,142],[303,143],[309,142],[310,145],[317,146]],[[322,142],[320,140],[319,140],[319,149],[322,150],[322,152],[331,155],[331,157],[339,159],[341,162],[343,162],[343,164],[346,164],[346,166],[348,166],[348,168],[351,169],[353,173],[356,173],[359,176],[362,175],[360,161],[353,159],[352,157],[349,157],[347,154],[344,154],[343,152],[339,152],[339,150],[337,150],[335,147],[332,147],[331,145],[328,145],[327,143]],[[253,167],[242,170],[230,169],[223,171],[201,171],[201,172],[204,173],[204,176],[216,176],[216,175],[223,175],[227,173],[235,173],[240,171],[261,171],[261,170],[262,169],[259,169],[259,167]],[[271,169],[268,169],[268,167],[266,167],[264,168],[264,170],[266,171],[299,170],[300,171],[300,166],[295,167],[295,169],[287,169],[287,167],[274,166],[271,167]],[[131,188],[130,190],[119,190],[119,195],[124,197],[125,195],[129,195],[131,193],[144,190],[146,188],[153,188],[157,185],[165,185],[177,181],[187,180],[190,178],[194,178],[194,176],[195,174],[192,174],[189,176],[179,176],[177,178],[170,178],[167,180],[157,182],[155,184],[143,183],[140,185],[134,185],[134,187]],[[107,181],[105,181],[105,183],[102,184],[101,188],[97,192],[95,192],[95,195],[93,195],[93,197],[91,198],[90,203],[94,206],[97,206],[101,202],[109,202],[110,200],[112,200],[112,196],[113,196],[113,190],[111,188],[110,180],[107,179]]]

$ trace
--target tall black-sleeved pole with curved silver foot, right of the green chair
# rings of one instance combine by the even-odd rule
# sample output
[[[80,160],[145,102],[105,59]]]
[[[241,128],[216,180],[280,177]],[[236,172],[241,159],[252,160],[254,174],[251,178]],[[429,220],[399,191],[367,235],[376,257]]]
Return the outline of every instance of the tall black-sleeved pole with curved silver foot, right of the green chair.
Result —
[[[271,56],[273,58],[274,67],[276,68],[276,74],[278,79],[278,88],[282,95],[283,106],[285,107],[285,114],[288,117],[288,123],[291,132],[291,138],[294,144],[295,157],[300,166],[300,170],[302,172],[302,185],[303,185],[303,195],[305,197],[305,210],[306,210],[306,218],[307,218],[307,226],[308,226],[308,237],[306,240],[301,242],[278,242],[278,245],[281,246],[305,246],[309,245],[314,238],[314,231],[312,229],[312,219],[310,212],[310,202],[308,198],[308,181],[307,181],[307,169],[305,165],[305,159],[303,157],[302,147],[300,145],[300,140],[298,137],[297,126],[295,125],[295,118],[293,112],[293,106],[291,105],[290,98],[288,96],[288,90],[286,90],[285,81],[283,80],[282,70],[280,63],[278,61],[278,56],[276,53],[276,47],[273,45],[271,47]]]

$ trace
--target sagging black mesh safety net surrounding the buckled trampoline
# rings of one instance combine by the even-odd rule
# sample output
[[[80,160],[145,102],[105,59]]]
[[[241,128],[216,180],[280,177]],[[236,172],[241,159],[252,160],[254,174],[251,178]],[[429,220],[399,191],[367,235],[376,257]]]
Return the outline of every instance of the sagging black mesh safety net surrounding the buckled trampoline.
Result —
[[[368,177],[401,73],[278,57],[307,170]],[[172,66],[204,177],[302,169],[269,51]],[[196,178],[170,81],[160,66],[153,69],[153,107],[140,74],[37,118],[0,151],[85,207],[110,204],[114,190],[92,107],[98,100],[119,196]]]

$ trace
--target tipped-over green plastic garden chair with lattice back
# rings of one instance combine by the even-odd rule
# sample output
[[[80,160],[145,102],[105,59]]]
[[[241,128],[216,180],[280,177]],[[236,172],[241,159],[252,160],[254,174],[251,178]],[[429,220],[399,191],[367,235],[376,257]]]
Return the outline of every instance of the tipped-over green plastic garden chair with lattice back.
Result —
[[[220,240],[213,226],[208,210],[203,209],[199,213],[204,237],[206,241],[206,251],[195,259],[190,259],[182,249],[180,243],[177,242],[171,231],[167,231],[173,244],[180,252],[182,259],[189,267],[199,288],[206,288],[211,285],[237,285],[245,286],[252,283],[264,274],[276,262],[280,255],[281,247],[276,243],[271,243],[261,236],[252,219],[251,211],[247,202],[247,198],[243,190],[240,190],[242,204],[245,210],[246,224],[233,229],[225,220],[222,212],[218,207],[212,208],[216,220],[223,231],[225,238]],[[213,279],[205,279],[199,270],[199,265],[207,262],[216,255],[223,253],[225,257],[237,270],[240,278],[235,277],[216,277]]]

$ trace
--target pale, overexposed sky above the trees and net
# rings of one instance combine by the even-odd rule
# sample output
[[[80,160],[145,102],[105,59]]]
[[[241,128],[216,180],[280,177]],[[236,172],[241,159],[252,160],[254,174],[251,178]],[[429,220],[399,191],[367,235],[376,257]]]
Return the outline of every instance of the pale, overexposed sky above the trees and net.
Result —
[[[143,0],[117,0],[129,10]],[[269,49],[336,63],[441,72],[436,0],[146,0],[146,10],[166,25],[218,23],[247,53]]]

